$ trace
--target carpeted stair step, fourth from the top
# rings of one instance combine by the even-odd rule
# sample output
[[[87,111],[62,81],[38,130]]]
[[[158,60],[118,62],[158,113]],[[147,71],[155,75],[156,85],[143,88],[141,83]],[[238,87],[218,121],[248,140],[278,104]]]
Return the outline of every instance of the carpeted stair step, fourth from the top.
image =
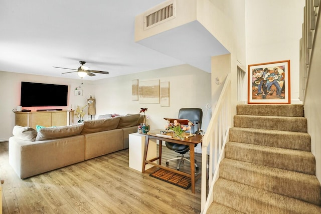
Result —
[[[225,157],[306,174],[315,174],[315,158],[311,152],[229,141]]]

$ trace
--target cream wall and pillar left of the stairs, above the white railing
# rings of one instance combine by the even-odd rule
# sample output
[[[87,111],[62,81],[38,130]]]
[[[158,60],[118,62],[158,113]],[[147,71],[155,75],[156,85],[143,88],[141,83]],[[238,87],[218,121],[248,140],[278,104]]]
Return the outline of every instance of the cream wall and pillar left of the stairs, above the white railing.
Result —
[[[239,103],[237,66],[246,70],[244,2],[244,0],[197,1],[198,21],[230,52],[230,55],[212,57],[212,107],[215,107],[227,74],[231,73],[232,115],[236,113],[236,104]],[[216,77],[221,79],[222,85],[215,84]],[[232,121],[230,125],[233,126]]]

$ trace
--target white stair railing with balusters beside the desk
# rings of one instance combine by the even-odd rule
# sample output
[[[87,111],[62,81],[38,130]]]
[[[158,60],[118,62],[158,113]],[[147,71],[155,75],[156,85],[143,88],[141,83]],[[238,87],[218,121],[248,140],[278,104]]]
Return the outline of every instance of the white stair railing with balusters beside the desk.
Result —
[[[201,213],[213,202],[213,185],[219,176],[219,164],[224,158],[224,148],[228,140],[231,115],[231,74],[228,74],[215,106],[209,126],[202,142],[202,187]],[[208,187],[208,189],[207,189]],[[208,195],[207,194],[208,190]]]

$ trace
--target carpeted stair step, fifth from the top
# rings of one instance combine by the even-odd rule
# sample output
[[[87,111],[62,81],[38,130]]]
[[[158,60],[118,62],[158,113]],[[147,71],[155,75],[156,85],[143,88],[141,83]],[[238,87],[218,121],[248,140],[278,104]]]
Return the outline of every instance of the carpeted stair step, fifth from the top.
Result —
[[[224,158],[220,177],[320,205],[321,186],[315,175]]]

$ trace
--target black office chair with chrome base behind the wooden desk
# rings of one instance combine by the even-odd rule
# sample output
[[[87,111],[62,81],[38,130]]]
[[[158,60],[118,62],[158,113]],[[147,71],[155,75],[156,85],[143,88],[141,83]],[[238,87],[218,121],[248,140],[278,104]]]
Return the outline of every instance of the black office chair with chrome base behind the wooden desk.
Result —
[[[199,134],[202,127],[202,118],[203,118],[203,111],[200,108],[181,108],[179,111],[178,119],[187,119],[194,124],[194,126],[191,127],[191,130],[190,130],[191,133]],[[166,165],[169,165],[170,164],[169,161],[171,160],[180,160],[177,166],[177,170],[179,170],[181,164],[184,164],[184,160],[191,162],[191,160],[184,157],[184,154],[186,154],[190,150],[190,146],[182,145],[178,143],[171,143],[167,141],[165,142],[165,144],[166,144],[166,147],[168,147],[169,149],[181,154],[175,158],[167,160]],[[195,146],[197,146],[197,144],[195,144]],[[196,169],[199,169],[199,166],[196,163],[195,163],[195,167]]]

